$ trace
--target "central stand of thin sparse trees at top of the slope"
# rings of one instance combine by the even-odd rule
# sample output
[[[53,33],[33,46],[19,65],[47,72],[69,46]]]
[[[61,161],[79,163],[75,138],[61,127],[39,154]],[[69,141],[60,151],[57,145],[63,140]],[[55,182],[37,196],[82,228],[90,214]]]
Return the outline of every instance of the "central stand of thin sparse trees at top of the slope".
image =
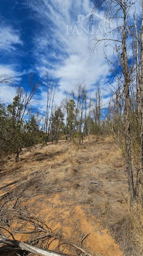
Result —
[[[64,92],[60,106],[54,105],[54,97],[58,91],[57,84],[47,79],[47,109],[42,125],[43,143],[58,143],[65,138],[76,145],[83,143],[83,137],[101,133],[102,93],[98,86],[97,92],[87,90],[84,82],[75,86],[73,91]],[[53,93],[52,93],[53,92]],[[52,102],[52,103],[51,103]]]

